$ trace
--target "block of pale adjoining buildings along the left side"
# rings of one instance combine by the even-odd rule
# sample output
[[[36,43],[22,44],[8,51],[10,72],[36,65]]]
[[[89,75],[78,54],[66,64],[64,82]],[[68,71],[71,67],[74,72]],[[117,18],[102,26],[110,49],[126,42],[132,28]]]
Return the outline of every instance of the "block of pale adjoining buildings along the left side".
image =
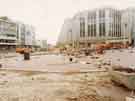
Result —
[[[16,46],[35,45],[33,26],[16,22],[8,17],[0,17],[0,50],[15,50]]]

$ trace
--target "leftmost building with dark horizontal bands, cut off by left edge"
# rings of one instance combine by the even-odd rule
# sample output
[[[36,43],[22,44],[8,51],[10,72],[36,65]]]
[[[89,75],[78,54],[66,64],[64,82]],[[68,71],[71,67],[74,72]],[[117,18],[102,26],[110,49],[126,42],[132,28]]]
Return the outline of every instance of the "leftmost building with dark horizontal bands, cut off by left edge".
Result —
[[[9,50],[17,45],[17,24],[7,17],[0,17],[0,49]]]

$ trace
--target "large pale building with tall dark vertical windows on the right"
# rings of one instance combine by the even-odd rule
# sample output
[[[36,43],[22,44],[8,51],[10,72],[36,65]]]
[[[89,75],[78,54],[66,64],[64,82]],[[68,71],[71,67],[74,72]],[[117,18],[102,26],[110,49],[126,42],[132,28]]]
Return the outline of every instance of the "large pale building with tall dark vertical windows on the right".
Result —
[[[59,35],[59,44],[91,47],[91,44],[131,42],[130,33],[124,33],[123,11],[99,8],[77,13],[66,20]]]

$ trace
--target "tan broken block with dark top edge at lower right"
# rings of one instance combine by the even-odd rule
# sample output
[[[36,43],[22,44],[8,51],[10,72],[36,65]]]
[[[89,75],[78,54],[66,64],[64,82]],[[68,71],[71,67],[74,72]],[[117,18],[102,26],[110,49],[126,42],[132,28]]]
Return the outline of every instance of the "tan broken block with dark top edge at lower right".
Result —
[[[110,71],[112,81],[118,85],[123,85],[130,90],[135,90],[135,69],[114,66]]]

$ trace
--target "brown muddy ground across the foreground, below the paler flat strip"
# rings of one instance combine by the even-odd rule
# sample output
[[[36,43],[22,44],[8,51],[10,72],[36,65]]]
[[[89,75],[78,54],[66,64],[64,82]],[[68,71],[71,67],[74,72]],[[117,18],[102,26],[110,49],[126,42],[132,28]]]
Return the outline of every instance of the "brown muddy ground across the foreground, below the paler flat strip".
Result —
[[[124,101],[129,93],[107,72],[0,71],[0,101]]]

